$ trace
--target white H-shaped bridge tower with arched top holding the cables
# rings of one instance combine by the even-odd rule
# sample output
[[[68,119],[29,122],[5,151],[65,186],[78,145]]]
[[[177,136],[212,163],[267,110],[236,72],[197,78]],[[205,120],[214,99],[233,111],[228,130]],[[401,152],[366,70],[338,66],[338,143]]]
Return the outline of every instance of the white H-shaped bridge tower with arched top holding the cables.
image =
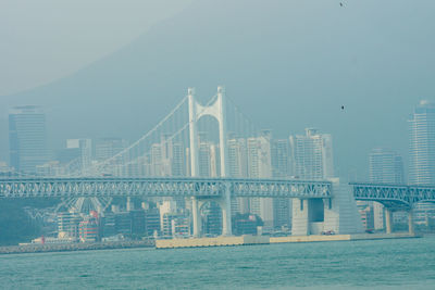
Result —
[[[220,148],[220,163],[221,163],[221,177],[227,176],[227,150],[226,150],[226,121],[225,121],[225,89],[217,87],[217,94],[215,101],[207,106],[201,105],[195,99],[195,89],[187,90],[189,102],[189,139],[190,139],[190,175],[198,177],[199,163],[198,163],[198,124],[197,122],[202,116],[212,116],[219,124],[219,148]],[[194,217],[194,236],[199,237],[201,234],[200,223],[200,207],[207,202],[192,198],[192,217]],[[222,235],[232,235],[231,225],[231,192],[229,185],[226,185],[225,194],[222,199],[216,201],[222,209]]]

